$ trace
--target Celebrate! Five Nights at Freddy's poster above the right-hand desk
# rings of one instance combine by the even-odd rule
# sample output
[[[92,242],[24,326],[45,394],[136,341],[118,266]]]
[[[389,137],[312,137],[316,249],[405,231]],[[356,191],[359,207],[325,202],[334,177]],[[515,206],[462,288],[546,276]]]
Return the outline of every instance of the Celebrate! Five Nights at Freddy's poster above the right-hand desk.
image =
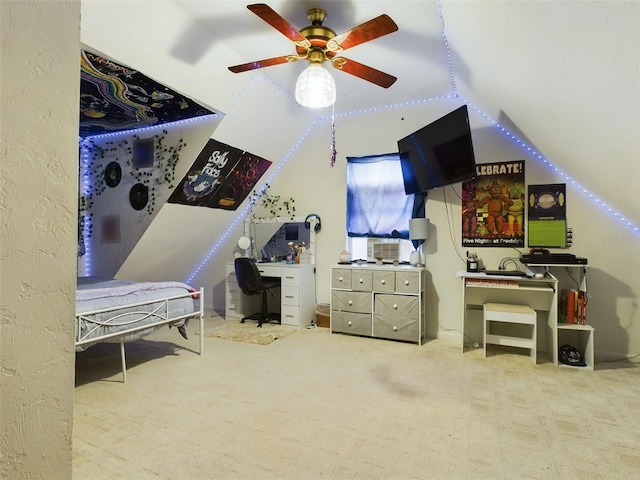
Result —
[[[524,160],[476,165],[462,183],[462,246],[524,247]]]

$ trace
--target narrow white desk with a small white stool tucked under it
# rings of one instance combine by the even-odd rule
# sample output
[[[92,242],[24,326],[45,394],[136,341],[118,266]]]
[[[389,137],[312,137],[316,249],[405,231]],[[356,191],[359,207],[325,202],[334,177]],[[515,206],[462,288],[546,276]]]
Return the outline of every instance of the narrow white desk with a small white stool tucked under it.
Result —
[[[485,303],[528,305],[538,314],[538,349],[542,343],[542,349],[550,352],[554,364],[558,364],[558,280],[553,275],[547,273],[545,278],[538,279],[463,271],[458,272],[457,276],[462,279],[463,353],[467,338],[467,317],[471,316],[470,312],[481,312]],[[481,331],[481,322],[476,324]],[[542,326],[545,328],[541,328]],[[471,341],[473,343],[473,339]],[[481,343],[482,336],[476,341]]]

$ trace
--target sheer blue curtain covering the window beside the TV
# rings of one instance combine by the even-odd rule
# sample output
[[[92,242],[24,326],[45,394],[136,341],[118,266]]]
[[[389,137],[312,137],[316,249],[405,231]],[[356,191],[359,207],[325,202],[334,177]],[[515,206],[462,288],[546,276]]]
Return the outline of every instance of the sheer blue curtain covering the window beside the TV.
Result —
[[[349,237],[408,239],[413,201],[404,191],[398,153],[347,157]]]

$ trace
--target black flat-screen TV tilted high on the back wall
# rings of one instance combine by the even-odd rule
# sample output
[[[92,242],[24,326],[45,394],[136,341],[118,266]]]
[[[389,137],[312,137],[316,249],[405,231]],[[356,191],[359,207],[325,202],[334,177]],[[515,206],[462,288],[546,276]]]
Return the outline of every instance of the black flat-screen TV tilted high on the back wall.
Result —
[[[407,195],[471,180],[476,162],[467,106],[398,141]]]

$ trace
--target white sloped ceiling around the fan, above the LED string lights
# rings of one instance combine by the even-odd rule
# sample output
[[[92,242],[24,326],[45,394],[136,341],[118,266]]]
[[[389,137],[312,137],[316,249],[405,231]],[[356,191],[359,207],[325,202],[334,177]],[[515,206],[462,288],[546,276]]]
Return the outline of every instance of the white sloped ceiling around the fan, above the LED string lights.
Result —
[[[286,1],[268,4],[293,25],[327,11],[337,33],[387,13],[399,31],[345,55],[398,77],[382,89],[330,69],[336,114],[459,95],[477,115],[528,146],[640,223],[640,4],[574,1]],[[256,115],[298,132],[289,102],[306,62],[233,74],[230,65],[294,53],[241,1],[83,1],[83,43],[222,112],[261,75]],[[444,34],[444,35],[443,35]],[[348,53],[348,55],[347,55]],[[274,93],[275,92],[275,93]],[[267,110],[265,110],[267,109]],[[330,110],[330,109],[329,109]],[[328,112],[324,112],[327,114]],[[226,122],[232,122],[231,116]],[[238,120],[234,128],[242,128]],[[290,128],[288,128],[290,127]],[[343,132],[343,134],[345,134]],[[292,135],[298,135],[292,133]],[[294,141],[294,139],[292,139]],[[246,147],[245,147],[246,148]]]

